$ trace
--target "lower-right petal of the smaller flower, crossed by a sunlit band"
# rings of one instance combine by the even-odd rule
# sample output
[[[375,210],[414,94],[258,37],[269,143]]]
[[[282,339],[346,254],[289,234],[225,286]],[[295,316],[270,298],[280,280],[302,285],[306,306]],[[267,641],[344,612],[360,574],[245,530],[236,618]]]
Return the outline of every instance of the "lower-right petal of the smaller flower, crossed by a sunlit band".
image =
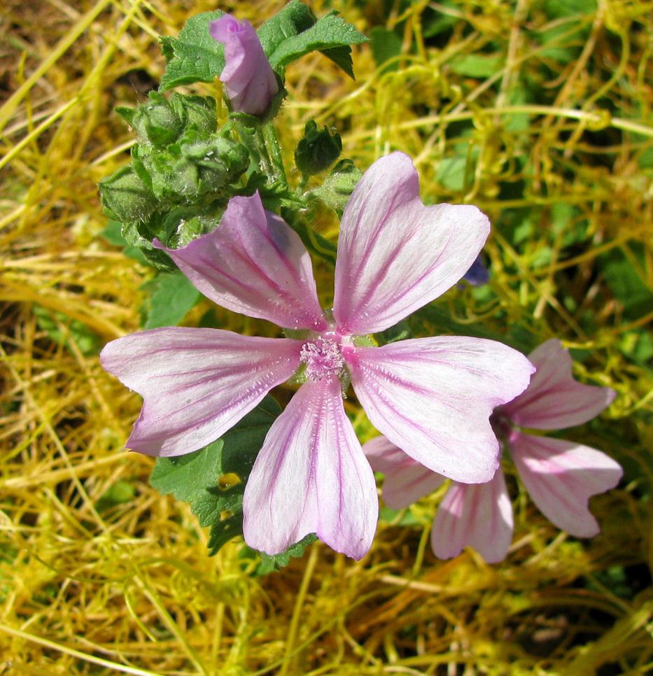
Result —
[[[513,432],[508,447],[528,494],[540,512],[575,537],[600,530],[589,498],[615,488],[622,468],[601,451],[564,439]]]

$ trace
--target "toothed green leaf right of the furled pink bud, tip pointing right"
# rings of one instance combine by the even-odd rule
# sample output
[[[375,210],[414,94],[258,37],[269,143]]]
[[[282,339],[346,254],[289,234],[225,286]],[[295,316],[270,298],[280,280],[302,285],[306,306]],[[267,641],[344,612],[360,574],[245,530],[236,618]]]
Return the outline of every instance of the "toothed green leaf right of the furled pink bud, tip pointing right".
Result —
[[[362,33],[342,17],[332,13],[322,17],[314,26],[302,33],[286,38],[269,55],[269,60],[272,68],[282,73],[288,64],[309,52],[319,50],[353,78],[349,45],[358,45],[365,41],[367,38]]]

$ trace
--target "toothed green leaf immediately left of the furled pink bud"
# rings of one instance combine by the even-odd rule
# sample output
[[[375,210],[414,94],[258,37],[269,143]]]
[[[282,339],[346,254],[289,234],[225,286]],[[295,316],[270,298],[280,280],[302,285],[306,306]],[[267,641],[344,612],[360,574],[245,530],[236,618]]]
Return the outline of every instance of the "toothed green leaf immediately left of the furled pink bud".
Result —
[[[185,22],[178,38],[161,38],[167,62],[161,92],[179,85],[213,82],[220,75],[225,67],[225,45],[211,37],[209,23],[223,14],[220,10],[196,14]]]

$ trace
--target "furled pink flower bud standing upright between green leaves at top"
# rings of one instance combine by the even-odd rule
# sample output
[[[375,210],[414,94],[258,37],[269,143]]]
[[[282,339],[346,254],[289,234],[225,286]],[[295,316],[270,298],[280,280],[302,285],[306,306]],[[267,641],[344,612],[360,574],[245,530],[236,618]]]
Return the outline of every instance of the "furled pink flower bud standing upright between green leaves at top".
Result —
[[[256,31],[246,19],[241,23],[228,14],[212,21],[209,31],[225,45],[226,65],[220,82],[232,108],[248,115],[265,115],[279,92],[279,83]]]

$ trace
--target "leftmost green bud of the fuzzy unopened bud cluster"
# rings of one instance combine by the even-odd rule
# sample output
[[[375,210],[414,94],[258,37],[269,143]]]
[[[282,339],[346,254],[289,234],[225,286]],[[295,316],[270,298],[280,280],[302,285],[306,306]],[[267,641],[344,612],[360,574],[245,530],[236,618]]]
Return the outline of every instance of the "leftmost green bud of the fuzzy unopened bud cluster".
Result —
[[[155,209],[152,190],[132,167],[122,167],[99,183],[102,206],[120,223],[145,220]]]

